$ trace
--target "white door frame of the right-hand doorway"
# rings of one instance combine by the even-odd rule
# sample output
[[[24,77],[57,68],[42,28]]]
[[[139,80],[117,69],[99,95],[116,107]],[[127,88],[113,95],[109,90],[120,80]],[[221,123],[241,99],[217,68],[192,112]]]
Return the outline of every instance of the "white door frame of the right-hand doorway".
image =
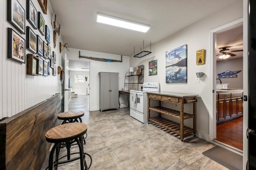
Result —
[[[210,30],[210,91],[209,91],[209,140],[210,142],[222,146],[232,152],[236,152],[241,155],[240,152],[233,150],[229,147],[214,142],[216,138],[216,33],[234,27],[243,23],[243,18],[230,22],[224,26],[220,26],[214,30]],[[214,91],[214,93],[213,93]]]

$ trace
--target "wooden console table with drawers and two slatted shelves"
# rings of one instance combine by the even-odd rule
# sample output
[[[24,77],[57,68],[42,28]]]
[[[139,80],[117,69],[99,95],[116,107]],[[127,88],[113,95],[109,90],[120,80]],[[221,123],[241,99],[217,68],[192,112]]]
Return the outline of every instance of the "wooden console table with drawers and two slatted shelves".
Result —
[[[153,122],[161,127],[164,127],[178,135],[183,142],[184,137],[188,134],[193,133],[196,136],[196,96],[192,94],[184,93],[170,93],[170,92],[147,92],[148,93],[148,123]],[[150,107],[150,99],[158,100],[159,105],[155,107]],[[180,111],[174,109],[169,109],[162,107],[161,101],[176,103],[180,105]],[[184,113],[184,104],[193,104],[193,114]],[[158,112],[158,117],[150,117],[150,111]],[[170,117],[176,118],[180,123],[170,121],[162,117],[161,114],[168,115]],[[193,128],[184,126],[185,119],[193,119]]]

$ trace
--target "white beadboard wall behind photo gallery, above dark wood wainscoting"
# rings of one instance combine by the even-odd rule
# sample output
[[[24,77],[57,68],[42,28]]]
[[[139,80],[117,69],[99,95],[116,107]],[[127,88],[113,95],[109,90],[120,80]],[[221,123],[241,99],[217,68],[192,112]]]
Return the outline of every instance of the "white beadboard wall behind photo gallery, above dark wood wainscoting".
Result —
[[[26,11],[26,0],[18,0]],[[51,25],[53,12],[48,0],[47,15],[43,14],[37,0],[32,0],[34,6],[40,11],[45,20],[45,24],[50,29],[50,46],[56,53],[56,67],[62,65],[61,54],[58,44],[61,37],[58,36],[56,47],[53,47],[53,27]],[[54,19],[54,18],[53,18]],[[57,16],[58,22],[58,16]],[[25,26],[32,26],[25,20]],[[11,117],[20,111],[23,111],[41,101],[51,97],[55,93],[61,93],[60,75],[53,76],[50,68],[49,76],[31,76],[26,75],[26,63],[20,64],[16,61],[7,59],[7,28],[12,28],[18,32],[9,22],[7,22],[7,0],[0,1],[0,119],[2,117]],[[38,30],[35,34],[40,35]],[[19,32],[18,32],[19,33]],[[21,34],[20,34],[21,35]],[[21,35],[26,40],[26,35]],[[46,42],[46,41],[45,41]],[[31,53],[26,50],[26,54]]]

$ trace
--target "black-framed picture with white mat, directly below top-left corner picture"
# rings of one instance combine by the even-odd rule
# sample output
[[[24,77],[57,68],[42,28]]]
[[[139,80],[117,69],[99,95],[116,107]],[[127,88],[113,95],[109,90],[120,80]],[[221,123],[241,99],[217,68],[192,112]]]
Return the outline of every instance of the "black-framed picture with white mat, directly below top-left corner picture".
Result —
[[[12,28],[8,28],[7,46],[7,57],[9,59],[25,63],[25,39],[12,30]]]

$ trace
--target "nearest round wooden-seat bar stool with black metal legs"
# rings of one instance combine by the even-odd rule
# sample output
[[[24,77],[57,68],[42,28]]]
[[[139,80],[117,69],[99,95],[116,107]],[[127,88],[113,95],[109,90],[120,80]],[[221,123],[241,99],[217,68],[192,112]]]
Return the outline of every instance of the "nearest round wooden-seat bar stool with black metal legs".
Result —
[[[49,156],[49,170],[52,170],[52,165],[54,164],[54,169],[58,168],[58,164],[64,164],[67,162],[71,162],[74,160],[80,159],[80,168],[81,170],[89,169],[92,164],[92,157],[84,153],[84,147],[83,147],[83,135],[87,131],[87,125],[84,123],[66,123],[63,125],[59,125],[57,127],[51,128],[45,133],[46,141],[54,143],[54,146],[52,147],[52,150],[50,152]],[[63,142],[70,142],[75,140],[79,147],[79,152],[72,153],[72,154],[80,154],[80,157],[73,158],[71,160],[66,160],[59,162],[58,160],[61,158],[58,158],[59,156],[59,145]],[[55,162],[53,162],[53,155],[54,151],[56,150],[56,156],[55,156]],[[91,159],[90,166],[88,167],[85,161],[85,155],[88,155]],[[68,155],[66,155],[68,156]],[[64,158],[63,156],[62,158]]]

